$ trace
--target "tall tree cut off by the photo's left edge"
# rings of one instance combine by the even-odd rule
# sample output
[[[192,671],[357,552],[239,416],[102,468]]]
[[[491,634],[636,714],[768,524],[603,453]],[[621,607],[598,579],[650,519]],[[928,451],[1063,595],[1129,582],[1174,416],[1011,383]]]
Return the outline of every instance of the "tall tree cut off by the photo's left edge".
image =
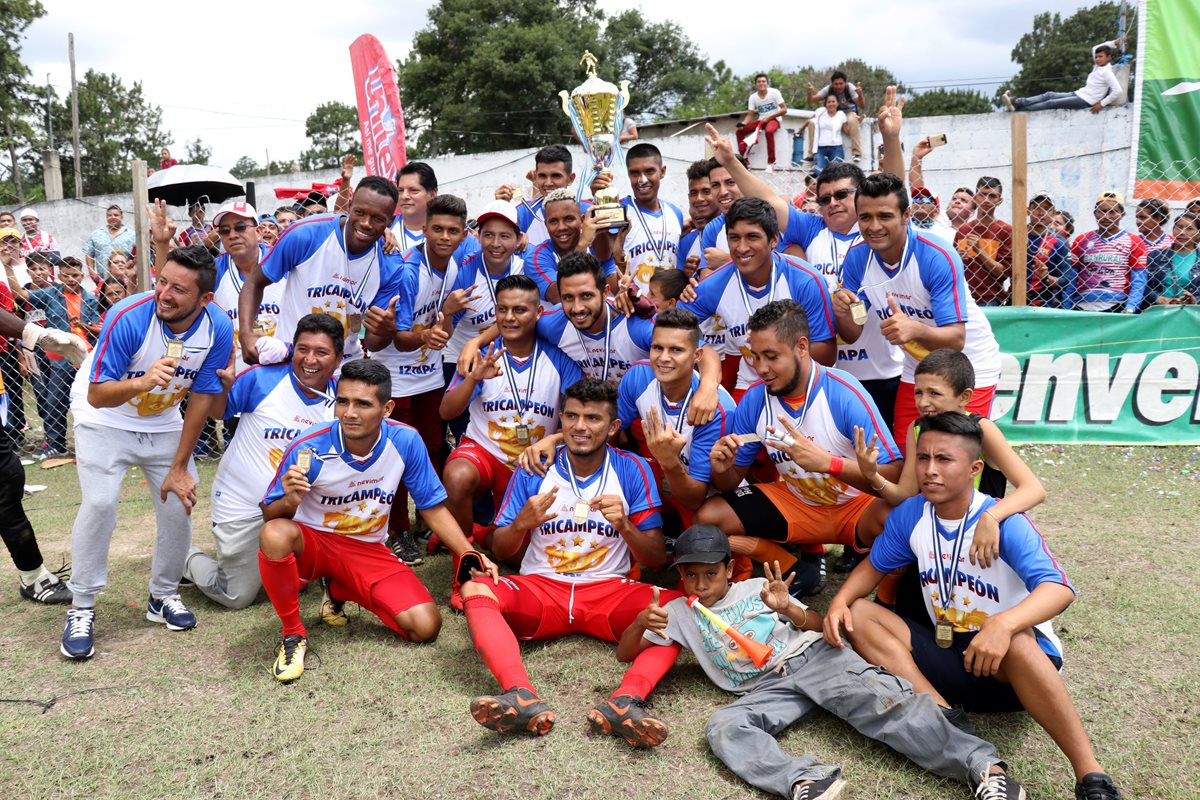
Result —
[[[41,104],[37,90],[29,83],[29,67],[20,60],[25,30],[46,16],[37,0],[6,0],[0,13],[0,144],[8,155],[8,172],[0,181],[0,193],[18,203],[26,199],[26,169],[32,163],[29,151],[36,138],[34,120]],[[34,154],[36,156],[36,154]],[[36,186],[36,184],[31,184]]]

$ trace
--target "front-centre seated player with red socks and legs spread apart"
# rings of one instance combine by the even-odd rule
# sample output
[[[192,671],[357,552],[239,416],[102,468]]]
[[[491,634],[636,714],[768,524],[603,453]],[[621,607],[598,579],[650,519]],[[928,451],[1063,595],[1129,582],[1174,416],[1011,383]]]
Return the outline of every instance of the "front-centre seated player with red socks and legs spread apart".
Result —
[[[649,468],[607,445],[620,426],[617,390],[587,378],[565,396],[565,446],[545,476],[514,474],[496,519],[497,558],[510,558],[528,542],[521,575],[462,587],[467,630],[503,690],[475,698],[470,714],[500,733],[545,735],[554,724],[554,712],[538,697],[521,662],[517,639],[584,633],[616,642],[659,591],[625,578],[632,561],[658,567],[666,560]],[[678,652],[673,646],[641,654],[617,691],[588,712],[592,727],[635,747],[666,739],[666,726],[646,711],[643,700]]]

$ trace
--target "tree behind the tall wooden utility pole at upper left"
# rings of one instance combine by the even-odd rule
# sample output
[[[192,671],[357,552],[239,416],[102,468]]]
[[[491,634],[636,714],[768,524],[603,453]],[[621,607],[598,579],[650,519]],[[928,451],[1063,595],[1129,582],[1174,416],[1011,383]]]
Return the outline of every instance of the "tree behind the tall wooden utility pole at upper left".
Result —
[[[170,144],[162,130],[162,109],[145,100],[142,83],[126,86],[115,74],[88,70],[79,82],[79,150],[84,194],[130,191],[130,161],[157,163],[158,151]],[[54,130],[71,130],[71,98],[54,104]],[[55,142],[64,169],[71,163],[71,140]],[[64,191],[74,196],[73,181]]]

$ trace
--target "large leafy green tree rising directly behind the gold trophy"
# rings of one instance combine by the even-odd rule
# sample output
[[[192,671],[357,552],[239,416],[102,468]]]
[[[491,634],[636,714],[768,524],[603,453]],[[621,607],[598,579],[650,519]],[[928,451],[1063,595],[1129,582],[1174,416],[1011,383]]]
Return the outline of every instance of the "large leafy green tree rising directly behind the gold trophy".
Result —
[[[431,155],[530,148],[571,139],[558,100],[584,79],[630,80],[630,112],[666,115],[697,102],[712,70],[678,25],[640,12],[612,19],[596,0],[439,0],[396,80],[408,130]]]

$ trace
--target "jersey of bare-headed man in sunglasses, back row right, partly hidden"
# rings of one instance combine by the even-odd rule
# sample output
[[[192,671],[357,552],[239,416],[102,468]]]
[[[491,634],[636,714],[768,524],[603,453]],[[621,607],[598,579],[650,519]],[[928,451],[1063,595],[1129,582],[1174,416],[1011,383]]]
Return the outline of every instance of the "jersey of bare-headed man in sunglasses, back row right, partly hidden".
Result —
[[[841,288],[841,265],[850,248],[863,241],[858,224],[847,234],[839,234],[816,213],[804,213],[787,207],[788,245],[799,245],[812,269],[824,276],[829,293]],[[838,337],[838,368],[845,369],[859,380],[884,380],[895,378],[904,368],[904,353],[880,332],[880,318],[868,314],[863,333],[853,344]]]

